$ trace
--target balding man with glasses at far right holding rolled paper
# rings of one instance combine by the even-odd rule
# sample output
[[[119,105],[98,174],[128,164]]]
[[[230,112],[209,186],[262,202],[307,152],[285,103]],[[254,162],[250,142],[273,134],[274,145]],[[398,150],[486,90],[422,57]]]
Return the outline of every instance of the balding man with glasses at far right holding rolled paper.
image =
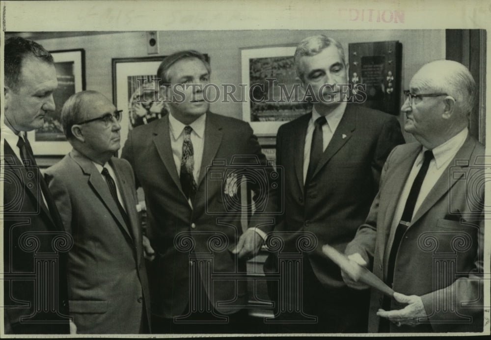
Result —
[[[396,291],[372,290],[369,331],[482,332],[485,150],[467,128],[476,84],[464,65],[439,60],[404,93],[404,129],[417,142],[389,155],[365,224],[346,248]]]

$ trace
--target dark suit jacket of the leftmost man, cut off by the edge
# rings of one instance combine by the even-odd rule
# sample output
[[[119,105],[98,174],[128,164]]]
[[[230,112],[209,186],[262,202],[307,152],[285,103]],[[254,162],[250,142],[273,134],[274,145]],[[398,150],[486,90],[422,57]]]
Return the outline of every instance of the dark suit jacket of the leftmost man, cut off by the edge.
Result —
[[[3,150],[4,173],[2,220],[3,220],[3,271],[16,281],[4,280],[4,320],[6,333],[56,334],[69,333],[68,293],[66,282],[66,251],[55,245],[54,240],[64,238],[70,244],[69,235],[63,230],[61,218],[56,209],[50,211],[42,198],[41,181],[44,181],[38,167],[25,167],[5,141]],[[49,200],[49,193],[45,194]],[[27,236],[27,237],[26,237]],[[61,239],[58,238],[58,239]],[[36,239],[38,242],[34,242]],[[58,244],[58,243],[56,243]],[[54,255],[57,273],[44,273],[39,277],[57,276],[57,294],[50,294],[49,287],[36,285],[32,275],[38,273],[35,261],[39,254]],[[42,261],[42,260],[41,260]],[[26,277],[30,275],[29,277]],[[22,279],[24,276],[24,279]],[[38,282],[38,284],[40,284]],[[49,281],[49,285],[54,282]],[[37,290],[39,289],[39,290]],[[51,301],[55,306],[44,306],[36,297]],[[36,301],[38,303],[36,303]],[[47,313],[42,311],[48,308]],[[37,313],[36,313],[37,311]],[[30,317],[33,316],[33,317]],[[19,323],[25,318],[24,323]],[[29,321],[43,321],[28,323]],[[50,322],[51,321],[51,322]],[[54,323],[54,322],[55,323]]]

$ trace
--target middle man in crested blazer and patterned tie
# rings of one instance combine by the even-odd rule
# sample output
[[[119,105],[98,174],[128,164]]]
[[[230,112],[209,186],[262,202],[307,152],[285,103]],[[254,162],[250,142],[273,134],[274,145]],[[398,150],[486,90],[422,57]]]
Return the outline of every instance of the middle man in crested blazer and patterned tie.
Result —
[[[202,54],[176,52],[157,76],[169,115],[130,131],[122,153],[143,187],[158,254],[149,269],[154,332],[251,332],[245,260],[273,227],[273,169],[246,122],[208,111],[210,66]],[[252,187],[262,189],[264,206],[243,232],[239,183],[252,173],[265,180]]]

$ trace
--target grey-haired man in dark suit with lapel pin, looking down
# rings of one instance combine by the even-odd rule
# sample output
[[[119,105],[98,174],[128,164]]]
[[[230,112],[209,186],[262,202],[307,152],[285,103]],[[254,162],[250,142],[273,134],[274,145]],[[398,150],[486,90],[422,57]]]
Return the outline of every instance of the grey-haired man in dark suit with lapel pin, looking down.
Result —
[[[302,324],[299,313],[282,312],[279,331],[363,332],[368,295],[346,287],[321,247],[327,243],[344,250],[377,193],[385,158],[404,139],[395,117],[347,103],[340,85],[348,84],[348,69],[337,41],[325,35],[305,38],[294,60],[302,87],[314,93],[315,101],[311,113],[278,130],[276,157],[284,167],[286,209],[274,231],[283,237],[284,253],[299,253],[297,239],[306,232],[315,235],[317,247],[302,252],[296,278],[302,300],[295,290],[279,291],[278,307],[302,308],[317,321]],[[277,270],[276,261],[270,255],[265,270]],[[273,286],[273,296],[274,291]]]

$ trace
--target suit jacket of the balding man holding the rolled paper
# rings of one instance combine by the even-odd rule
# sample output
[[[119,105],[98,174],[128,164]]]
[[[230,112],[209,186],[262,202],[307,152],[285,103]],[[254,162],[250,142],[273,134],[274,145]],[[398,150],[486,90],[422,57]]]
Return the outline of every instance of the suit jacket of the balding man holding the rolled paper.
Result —
[[[393,150],[368,217],[346,249],[347,254],[364,257],[384,281],[395,234],[394,212],[420,151],[419,143]],[[391,332],[482,331],[484,185],[475,186],[484,183],[481,155],[484,147],[469,136],[415,212],[397,252],[393,289],[421,296],[430,322],[416,327],[391,324]],[[381,305],[382,293],[372,291],[369,332],[378,331]],[[391,309],[404,306],[392,300]]]

